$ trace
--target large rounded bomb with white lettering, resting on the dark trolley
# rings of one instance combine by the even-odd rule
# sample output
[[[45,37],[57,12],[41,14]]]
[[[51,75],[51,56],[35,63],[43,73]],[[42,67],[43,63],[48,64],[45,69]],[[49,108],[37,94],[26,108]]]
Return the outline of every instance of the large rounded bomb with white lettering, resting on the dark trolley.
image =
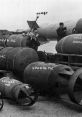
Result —
[[[58,53],[82,54],[82,34],[73,34],[61,39],[57,45]]]

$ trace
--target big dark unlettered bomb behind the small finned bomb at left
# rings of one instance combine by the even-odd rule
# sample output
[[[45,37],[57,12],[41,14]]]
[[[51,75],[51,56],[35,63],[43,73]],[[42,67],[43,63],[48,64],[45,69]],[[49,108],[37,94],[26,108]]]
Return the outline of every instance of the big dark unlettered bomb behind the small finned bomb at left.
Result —
[[[37,52],[32,48],[7,47],[0,51],[0,69],[23,73],[31,62],[38,61]]]

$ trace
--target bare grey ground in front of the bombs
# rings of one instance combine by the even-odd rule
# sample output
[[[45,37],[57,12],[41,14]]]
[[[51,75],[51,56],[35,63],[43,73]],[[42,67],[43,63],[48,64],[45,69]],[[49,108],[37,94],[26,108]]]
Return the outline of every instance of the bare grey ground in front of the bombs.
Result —
[[[0,117],[81,117],[82,107],[72,103],[39,97],[31,107],[20,107],[4,101]]]

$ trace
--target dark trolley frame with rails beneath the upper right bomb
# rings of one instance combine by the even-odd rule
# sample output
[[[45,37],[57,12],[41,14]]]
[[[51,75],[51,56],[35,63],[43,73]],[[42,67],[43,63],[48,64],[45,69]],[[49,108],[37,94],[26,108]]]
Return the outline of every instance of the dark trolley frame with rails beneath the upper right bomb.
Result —
[[[82,67],[82,55],[76,54],[47,54],[47,61],[57,64],[65,64],[71,66],[74,70]]]

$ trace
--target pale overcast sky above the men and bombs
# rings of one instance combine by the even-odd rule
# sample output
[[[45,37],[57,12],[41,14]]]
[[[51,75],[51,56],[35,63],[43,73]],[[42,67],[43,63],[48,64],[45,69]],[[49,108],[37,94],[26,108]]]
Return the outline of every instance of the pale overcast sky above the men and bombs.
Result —
[[[82,18],[82,0],[0,0],[0,29],[27,29],[27,20],[35,20],[40,15],[38,24],[52,24]]]

